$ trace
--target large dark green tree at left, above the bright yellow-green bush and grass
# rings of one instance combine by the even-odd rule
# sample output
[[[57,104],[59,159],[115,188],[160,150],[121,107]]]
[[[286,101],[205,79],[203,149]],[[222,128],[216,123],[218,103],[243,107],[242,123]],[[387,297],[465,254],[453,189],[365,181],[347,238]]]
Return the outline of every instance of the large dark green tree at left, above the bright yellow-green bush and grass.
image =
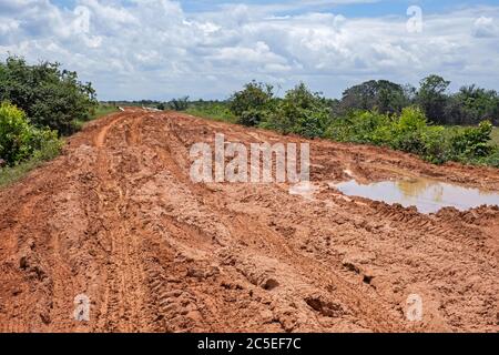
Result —
[[[22,58],[0,62],[0,101],[23,110],[37,126],[61,134],[75,131],[77,121],[91,118],[96,105],[95,91],[81,83],[75,72],[61,70],[59,63],[29,65]]]

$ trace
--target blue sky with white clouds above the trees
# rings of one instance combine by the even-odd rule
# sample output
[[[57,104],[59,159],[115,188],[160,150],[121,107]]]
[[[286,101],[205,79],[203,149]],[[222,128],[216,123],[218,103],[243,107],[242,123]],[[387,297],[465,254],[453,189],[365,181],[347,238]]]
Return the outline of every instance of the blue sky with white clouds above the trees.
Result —
[[[0,0],[0,58],[59,61],[102,100],[224,99],[252,79],[339,97],[430,73],[499,90],[498,51],[499,0]]]

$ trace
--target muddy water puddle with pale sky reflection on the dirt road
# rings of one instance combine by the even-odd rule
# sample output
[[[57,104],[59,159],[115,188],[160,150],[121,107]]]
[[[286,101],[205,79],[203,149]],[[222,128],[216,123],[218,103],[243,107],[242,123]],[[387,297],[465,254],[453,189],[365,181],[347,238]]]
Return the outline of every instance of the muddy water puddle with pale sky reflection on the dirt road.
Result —
[[[435,213],[446,206],[460,211],[482,204],[499,205],[499,193],[452,185],[427,179],[381,181],[359,184],[355,180],[332,184],[345,195],[360,196],[405,207],[416,206],[421,213]]]

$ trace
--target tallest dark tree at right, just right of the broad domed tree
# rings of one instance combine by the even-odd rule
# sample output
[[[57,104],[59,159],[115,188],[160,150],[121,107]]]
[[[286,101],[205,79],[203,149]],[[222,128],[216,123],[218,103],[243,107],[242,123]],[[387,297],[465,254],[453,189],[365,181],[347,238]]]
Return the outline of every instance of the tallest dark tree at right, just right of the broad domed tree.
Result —
[[[446,122],[447,89],[450,81],[439,75],[429,75],[420,81],[417,102],[426,116],[436,123]]]

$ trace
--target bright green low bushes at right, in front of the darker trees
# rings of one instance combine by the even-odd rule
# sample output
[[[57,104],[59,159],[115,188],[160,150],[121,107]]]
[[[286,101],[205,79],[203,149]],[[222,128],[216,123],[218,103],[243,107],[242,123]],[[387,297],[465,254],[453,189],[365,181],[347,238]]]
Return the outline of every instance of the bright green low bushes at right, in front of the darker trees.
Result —
[[[356,111],[334,120],[325,136],[354,143],[388,146],[441,164],[458,161],[498,166],[498,146],[490,144],[492,125],[488,121],[475,128],[446,129],[429,125],[426,115],[416,106],[406,108],[399,115],[376,111]]]

